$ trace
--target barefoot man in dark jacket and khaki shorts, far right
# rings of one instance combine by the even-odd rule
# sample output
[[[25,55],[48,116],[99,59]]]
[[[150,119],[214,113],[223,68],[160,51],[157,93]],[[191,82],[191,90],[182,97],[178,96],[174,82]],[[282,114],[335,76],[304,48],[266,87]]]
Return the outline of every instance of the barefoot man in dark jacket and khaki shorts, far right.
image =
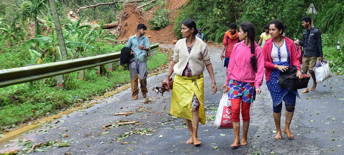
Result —
[[[321,33],[319,29],[312,26],[311,17],[304,16],[301,21],[302,26],[306,28],[306,30],[302,34],[302,41],[297,39],[296,44],[303,46],[302,69],[303,73],[307,74],[308,70],[308,72],[311,74],[313,79],[313,86],[311,88],[311,91],[313,91],[316,88],[316,80],[314,71],[312,69],[316,65],[317,57],[319,57],[319,61],[323,61]],[[308,87],[304,91],[302,91],[302,93],[307,92],[309,92]]]

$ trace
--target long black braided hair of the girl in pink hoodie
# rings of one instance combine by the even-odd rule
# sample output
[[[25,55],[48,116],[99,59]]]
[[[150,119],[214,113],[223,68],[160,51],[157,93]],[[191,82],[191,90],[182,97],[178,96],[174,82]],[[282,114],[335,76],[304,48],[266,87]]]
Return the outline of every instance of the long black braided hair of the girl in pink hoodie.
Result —
[[[243,23],[240,23],[240,27],[244,31],[244,33],[247,32],[247,36],[251,40],[251,63],[252,63],[253,70],[257,72],[257,58],[255,56],[255,39],[256,39],[255,26],[253,26],[252,23],[243,22]]]

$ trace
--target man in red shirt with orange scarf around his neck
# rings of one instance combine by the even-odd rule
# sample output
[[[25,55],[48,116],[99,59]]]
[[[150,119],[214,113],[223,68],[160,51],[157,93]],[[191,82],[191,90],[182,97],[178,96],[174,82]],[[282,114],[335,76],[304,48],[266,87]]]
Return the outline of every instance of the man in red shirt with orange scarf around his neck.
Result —
[[[229,24],[229,30],[225,33],[223,37],[222,50],[221,50],[221,60],[225,59],[224,67],[228,68],[230,54],[232,53],[233,46],[239,42],[238,31],[236,30],[237,25],[235,23]],[[223,54],[226,50],[226,53]],[[226,72],[227,73],[227,72]]]

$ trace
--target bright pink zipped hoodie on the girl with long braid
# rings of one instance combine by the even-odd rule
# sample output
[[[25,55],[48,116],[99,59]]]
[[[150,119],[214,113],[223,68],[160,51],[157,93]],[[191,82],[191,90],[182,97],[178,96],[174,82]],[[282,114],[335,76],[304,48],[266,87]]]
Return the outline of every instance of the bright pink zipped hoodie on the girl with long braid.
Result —
[[[256,42],[254,55],[257,58],[257,72],[252,68],[251,44],[246,47],[243,40],[234,45],[227,69],[226,85],[233,79],[239,82],[255,82],[255,88],[261,86],[264,77],[264,56]]]

